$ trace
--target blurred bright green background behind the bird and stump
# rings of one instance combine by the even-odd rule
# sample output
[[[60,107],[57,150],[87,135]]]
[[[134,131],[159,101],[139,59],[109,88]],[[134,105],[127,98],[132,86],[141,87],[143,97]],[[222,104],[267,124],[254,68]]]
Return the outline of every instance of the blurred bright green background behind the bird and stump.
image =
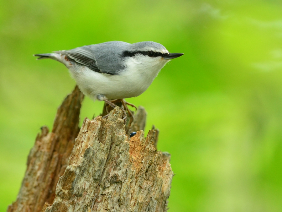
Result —
[[[171,154],[169,211],[281,211],[281,0],[0,0],[0,210],[75,86],[64,65],[32,55],[114,40],[184,53],[127,99]],[[81,120],[102,105],[86,97]]]

